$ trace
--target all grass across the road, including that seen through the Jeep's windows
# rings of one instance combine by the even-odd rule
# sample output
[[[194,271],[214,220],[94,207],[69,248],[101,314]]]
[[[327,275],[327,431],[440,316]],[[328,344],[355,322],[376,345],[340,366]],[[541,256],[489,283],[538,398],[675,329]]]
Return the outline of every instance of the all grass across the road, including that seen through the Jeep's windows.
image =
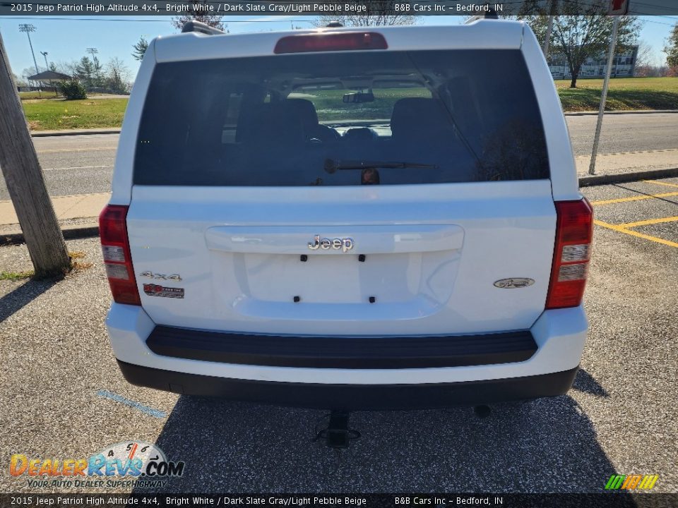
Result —
[[[597,111],[602,80],[578,80],[575,89],[571,89],[569,85],[569,80],[556,81],[565,111]],[[419,89],[375,90],[376,101],[363,104],[340,102],[343,95],[340,90],[313,90],[310,94],[314,95],[313,102],[323,121],[332,121],[375,116],[388,119],[393,104],[400,97],[425,97],[428,92]],[[126,107],[127,99],[61,101],[25,97],[23,101],[23,109],[32,131],[120,127]],[[678,78],[611,79],[606,109],[678,109]]]

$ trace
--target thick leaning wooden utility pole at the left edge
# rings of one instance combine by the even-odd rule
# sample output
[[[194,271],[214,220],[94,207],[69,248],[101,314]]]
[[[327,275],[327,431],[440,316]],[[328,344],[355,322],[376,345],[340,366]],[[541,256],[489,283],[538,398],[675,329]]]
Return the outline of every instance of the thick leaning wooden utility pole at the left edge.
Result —
[[[30,138],[9,59],[0,37],[0,169],[19,219],[35,277],[71,269],[71,260]]]

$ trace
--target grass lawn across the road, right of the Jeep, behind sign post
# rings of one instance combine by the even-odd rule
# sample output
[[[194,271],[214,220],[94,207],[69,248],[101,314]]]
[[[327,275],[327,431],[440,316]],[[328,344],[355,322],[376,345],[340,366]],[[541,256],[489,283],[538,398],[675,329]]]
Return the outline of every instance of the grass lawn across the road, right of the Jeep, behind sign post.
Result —
[[[557,80],[556,87],[565,111],[597,111],[602,79]],[[678,109],[678,78],[611,78],[606,111],[620,109]]]

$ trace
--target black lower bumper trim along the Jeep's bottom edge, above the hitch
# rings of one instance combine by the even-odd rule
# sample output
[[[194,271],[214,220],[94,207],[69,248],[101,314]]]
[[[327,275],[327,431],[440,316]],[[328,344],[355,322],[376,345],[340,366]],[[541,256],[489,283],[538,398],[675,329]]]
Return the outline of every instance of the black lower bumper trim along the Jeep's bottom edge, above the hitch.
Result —
[[[578,367],[559,373],[422,385],[322,385],[186,374],[118,360],[132,385],[186,395],[315,409],[376,411],[473,406],[565,394]]]

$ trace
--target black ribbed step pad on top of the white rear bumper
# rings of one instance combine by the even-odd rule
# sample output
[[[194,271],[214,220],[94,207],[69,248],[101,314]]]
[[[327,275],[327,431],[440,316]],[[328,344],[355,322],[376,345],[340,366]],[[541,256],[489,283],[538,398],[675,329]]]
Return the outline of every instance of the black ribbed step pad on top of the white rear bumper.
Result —
[[[528,360],[529,330],[450,337],[287,337],[157,326],[153,353],[189,360],[273,367],[394,369],[492,365]]]

